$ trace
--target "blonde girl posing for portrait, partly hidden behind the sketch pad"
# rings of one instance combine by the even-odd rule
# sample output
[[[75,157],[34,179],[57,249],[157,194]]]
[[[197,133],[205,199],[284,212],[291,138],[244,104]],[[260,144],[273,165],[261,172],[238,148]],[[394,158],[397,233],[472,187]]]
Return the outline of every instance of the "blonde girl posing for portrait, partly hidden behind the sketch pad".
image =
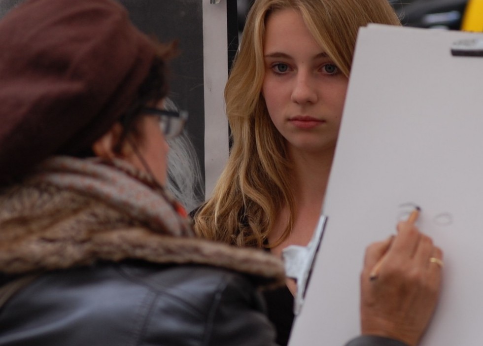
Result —
[[[225,89],[233,146],[213,195],[194,216],[199,235],[277,256],[310,241],[357,32],[368,23],[400,24],[387,0],[255,1]],[[429,255],[438,251],[431,244]],[[296,284],[287,286],[266,295],[280,345],[293,320]]]

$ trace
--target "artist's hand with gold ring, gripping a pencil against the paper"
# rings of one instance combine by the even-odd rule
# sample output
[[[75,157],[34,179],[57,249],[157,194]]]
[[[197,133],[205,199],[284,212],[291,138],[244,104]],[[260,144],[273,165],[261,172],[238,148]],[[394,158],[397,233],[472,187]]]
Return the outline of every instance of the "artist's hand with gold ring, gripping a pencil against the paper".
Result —
[[[440,248],[408,222],[400,222],[395,237],[370,245],[361,274],[362,334],[418,344],[438,300],[443,258]],[[380,258],[379,275],[371,271]]]

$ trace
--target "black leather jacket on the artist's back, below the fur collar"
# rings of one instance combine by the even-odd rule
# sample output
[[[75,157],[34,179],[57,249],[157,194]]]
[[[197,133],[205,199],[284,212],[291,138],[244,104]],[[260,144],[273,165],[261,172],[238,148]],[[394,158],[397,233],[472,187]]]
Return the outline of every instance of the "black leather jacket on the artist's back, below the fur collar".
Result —
[[[0,311],[0,345],[275,345],[250,279],[200,265],[104,263],[37,278]]]

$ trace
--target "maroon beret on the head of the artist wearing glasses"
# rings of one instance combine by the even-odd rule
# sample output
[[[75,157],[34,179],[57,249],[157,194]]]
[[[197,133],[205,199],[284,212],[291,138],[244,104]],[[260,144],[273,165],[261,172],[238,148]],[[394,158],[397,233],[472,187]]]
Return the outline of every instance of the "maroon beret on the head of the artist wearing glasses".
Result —
[[[0,20],[0,183],[85,150],[136,99],[154,43],[113,0],[28,0]]]

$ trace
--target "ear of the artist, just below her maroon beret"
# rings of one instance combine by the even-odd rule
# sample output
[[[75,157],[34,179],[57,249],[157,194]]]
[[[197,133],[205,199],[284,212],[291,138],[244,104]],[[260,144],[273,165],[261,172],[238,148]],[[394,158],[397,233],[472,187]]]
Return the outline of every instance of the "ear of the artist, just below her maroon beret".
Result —
[[[132,154],[132,148],[127,141],[121,143],[119,147],[122,133],[122,125],[115,123],[109,131],[92,144],[94,154],[103,159],[113,159],[116,157],[127,158],[130,156]]]

